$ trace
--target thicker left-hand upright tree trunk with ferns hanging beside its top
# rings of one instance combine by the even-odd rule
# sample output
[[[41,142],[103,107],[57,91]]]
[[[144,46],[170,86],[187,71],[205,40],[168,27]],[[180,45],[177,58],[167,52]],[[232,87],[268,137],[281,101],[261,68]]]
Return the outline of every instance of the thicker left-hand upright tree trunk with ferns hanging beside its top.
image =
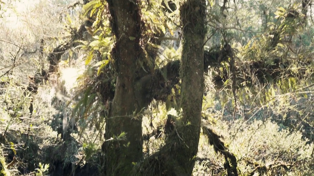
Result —
[[[111,54],[115,60],[117,80],[110,114],[106,119],[106,142],[102,149],[106,155],[106,175],[121,176],[129,175],[133,162],[138,162],[143,153],[142,119],[133,114],[140,110],[134,83],[136,61],[141,53],[141,18],[136,0],[107,2],[112,32],[116,36]],[[126,135],[118,137],[123,132]],[[111,137],[113,139],[109,140]]]

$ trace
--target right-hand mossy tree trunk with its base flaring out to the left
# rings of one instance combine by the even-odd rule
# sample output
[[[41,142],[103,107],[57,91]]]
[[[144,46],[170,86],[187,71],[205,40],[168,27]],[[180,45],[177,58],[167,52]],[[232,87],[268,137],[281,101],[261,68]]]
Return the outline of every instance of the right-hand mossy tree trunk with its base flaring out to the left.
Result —
[[[181,6],[184,26],[181,61],[181,104],[183,116],[168,115],[165,145],[139,164],[134,175],[190,176],[198,153],[204,84],[205,2],[187,0]]]

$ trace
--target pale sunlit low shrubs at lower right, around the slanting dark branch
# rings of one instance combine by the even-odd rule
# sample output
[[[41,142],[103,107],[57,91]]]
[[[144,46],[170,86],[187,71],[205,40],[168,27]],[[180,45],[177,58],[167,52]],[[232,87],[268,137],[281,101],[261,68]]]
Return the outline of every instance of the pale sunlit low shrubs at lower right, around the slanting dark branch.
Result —
[[[214,129],[224,137],[224,142],[230,152],[236,155],[241,175],[258,173],[256,166],[268,167],[276,163],[281,163],[283,168],[270,166],[265,173],[260,175],[311,175],[310,173],[314,173],[311,168],[314,164],[311,157],[314,146],[313,144],[306,145],[306,140],[300,132],[291,133],[270,120],[250,123],[237,120],[229,127],[228,122],[223,121],[218,122]],[[223,158],[217,156],[212,148],[202,145],[202,140],[203,137],[200,139],[198,156],[200,158],[206,156],[208,159],[196,163],[193,175],[222,174],[224,171],[219,168],[219,165],[223,164]],[[285,166],[298,169],[284,169]]]

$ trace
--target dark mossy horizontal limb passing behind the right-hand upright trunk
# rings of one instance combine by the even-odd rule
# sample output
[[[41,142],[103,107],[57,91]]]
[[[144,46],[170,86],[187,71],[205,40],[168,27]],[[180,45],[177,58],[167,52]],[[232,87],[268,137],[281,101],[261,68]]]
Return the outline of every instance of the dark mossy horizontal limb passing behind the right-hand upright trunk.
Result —
[[[230,45],[225,45],[222,49],[213,49],[204,52],[204,73],[208,72],[208,68],[217,70],[214,75],[214,85],[216,89],[223,88],[224,82],[230,79],[228,70],[221,63],[230,64],[228,59],[231,55]],[[300,69],[295,72],[290,69],[290,65],[299,65]],[[236,88],[252,85],[263,85],[278,80],[286,79],[287,77],[303,78],[306,75],[306,69],[311,65],[311,59],[304,62],[296,62],[292,60],[281,61],[274,59],[273,64],[268,64],[266,61],[247,62],[246,64],[235,65],[235,81]],[[154,74],[146,75],[137,81],[137,85],[142,90],[142,96],[146,97],[148,104],[153,100],[166,101],[167,97],[171,95],[171,89],[179,84],[180,80],[181,61],[175,60],[169,62],[164,67],[156,69]],[[245,83],[245,84],[243,84]],[[110,85],[106,83],[106,85]],[[140,86],[141,85],[141,86]],[[113,98],[114,87],[108,87],[107,98]],[[146,103],[147,104],[147,103]]]

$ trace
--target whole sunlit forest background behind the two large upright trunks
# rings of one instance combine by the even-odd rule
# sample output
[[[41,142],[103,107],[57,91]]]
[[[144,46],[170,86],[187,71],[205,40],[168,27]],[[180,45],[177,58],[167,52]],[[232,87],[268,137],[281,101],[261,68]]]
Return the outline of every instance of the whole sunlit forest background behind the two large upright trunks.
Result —
[[[142,118],[145,160],[171,135],[180,137],[185,1],[136,2],[146,45],[135,80],[157,75],[154,85],[137,87],[152,97],[132,116]],[[119,75],[110,1],[0,4],[0,175],[103,175],[111,141],[105,122]],[[216,0],[203,7],[202,121],[192,175],[313,175],[311,1]],[[170,175],[163,157],[145,171],[158,166],[151,174]]]

